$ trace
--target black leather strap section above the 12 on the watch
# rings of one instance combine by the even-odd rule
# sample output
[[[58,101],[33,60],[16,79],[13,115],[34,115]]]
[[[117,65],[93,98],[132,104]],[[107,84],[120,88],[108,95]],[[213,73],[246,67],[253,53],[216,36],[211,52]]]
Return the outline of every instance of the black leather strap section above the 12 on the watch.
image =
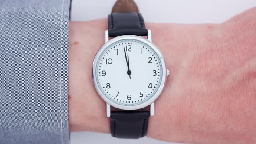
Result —
[[[140,13],[111,13],[108,15],[108,35],[110,37],[121,35],[147,36],[144,19]]]

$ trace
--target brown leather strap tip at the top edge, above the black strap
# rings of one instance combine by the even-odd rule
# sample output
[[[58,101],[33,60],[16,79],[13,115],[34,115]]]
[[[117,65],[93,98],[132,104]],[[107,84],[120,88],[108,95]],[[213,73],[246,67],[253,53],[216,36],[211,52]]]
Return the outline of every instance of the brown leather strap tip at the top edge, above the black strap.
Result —
[[[117,0],[111,13],[139,12],[136,3],[133,0]]]

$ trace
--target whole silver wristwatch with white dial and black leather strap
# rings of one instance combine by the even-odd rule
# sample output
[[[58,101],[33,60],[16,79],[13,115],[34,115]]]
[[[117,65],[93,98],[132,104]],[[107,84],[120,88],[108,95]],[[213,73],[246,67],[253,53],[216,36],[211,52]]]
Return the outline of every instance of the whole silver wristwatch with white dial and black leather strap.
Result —
[[[106,102],[111,135],[140,138],[146,134],[148,118],[154,115],[154,101],[169,71],[136,4],[118,0],[115,6],[108,16],[105,44],[93,61],[92,79],[98,95]]]

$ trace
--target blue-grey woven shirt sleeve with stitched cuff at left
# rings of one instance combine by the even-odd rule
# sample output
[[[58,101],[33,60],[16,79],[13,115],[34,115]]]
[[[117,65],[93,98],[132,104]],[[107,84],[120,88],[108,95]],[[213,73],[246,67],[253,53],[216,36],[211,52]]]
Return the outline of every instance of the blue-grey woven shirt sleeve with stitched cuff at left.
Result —
[[[69,0],[0,0],[0,144],[68,144]]]

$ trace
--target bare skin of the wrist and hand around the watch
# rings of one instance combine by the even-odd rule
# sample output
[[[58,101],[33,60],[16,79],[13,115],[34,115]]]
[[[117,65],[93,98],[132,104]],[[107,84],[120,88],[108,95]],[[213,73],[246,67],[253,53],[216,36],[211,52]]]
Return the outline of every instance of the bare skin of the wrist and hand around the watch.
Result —
[[[198,144],[256,143],[256,8],[221,24],[146,23],[170,76],[147,136]],[[69,131],[110,133],[92,61],[107,20],[69,22]]]

